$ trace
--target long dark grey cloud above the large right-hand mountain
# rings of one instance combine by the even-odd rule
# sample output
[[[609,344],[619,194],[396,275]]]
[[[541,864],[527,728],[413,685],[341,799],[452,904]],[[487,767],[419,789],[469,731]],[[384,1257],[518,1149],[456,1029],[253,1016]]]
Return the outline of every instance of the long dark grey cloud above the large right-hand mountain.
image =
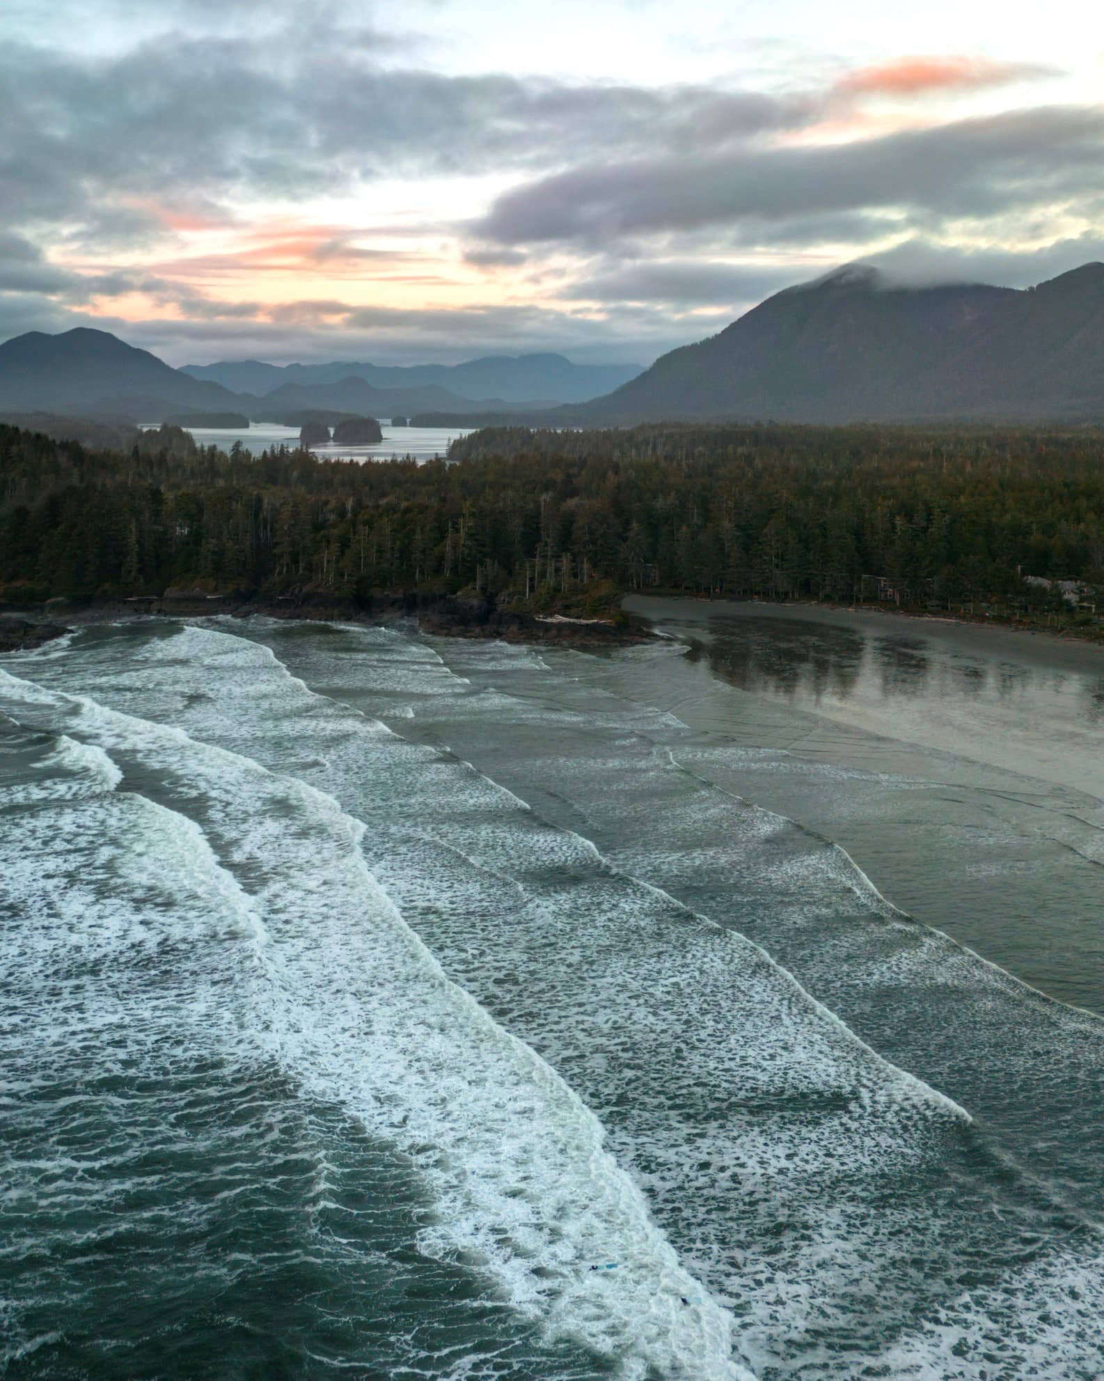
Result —
[[[834,145],[584,164],[498,197],[483,242],[603,244],[622,235],[898,209],[994,215],[1104,191],[1104,110],[1053,106]]]

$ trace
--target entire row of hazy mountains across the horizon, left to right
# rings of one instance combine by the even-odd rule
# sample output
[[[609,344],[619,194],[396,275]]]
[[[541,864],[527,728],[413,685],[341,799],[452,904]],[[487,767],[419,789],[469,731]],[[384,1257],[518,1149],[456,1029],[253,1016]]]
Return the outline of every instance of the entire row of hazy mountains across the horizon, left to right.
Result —
[[[0,345],[0,410],[160,421],[184,410],[280,420],[282,413],[322,409],[374,417],[432,413],[447,424],[468,417],[479,424],[495,414],[582,427],[1100,421],[1104,264],[1024,290],[907,287],[849,265],[774,294],[718,336],[671,351],[603,396],[564,398],[609,387],[633,370],[573,365],[560,355],[487,356],[455,366],[241,360],[179,370],[106,331],[79,327],[59,336],[32,331]],[[483,394],[486,388],[498,391]]]

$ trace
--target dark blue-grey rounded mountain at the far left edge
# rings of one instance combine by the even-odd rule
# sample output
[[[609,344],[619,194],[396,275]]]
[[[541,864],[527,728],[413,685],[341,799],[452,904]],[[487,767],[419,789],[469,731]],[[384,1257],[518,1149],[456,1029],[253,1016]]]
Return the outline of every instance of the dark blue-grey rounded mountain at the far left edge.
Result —
[[[160,421],[166,410],[226,412],[236,402],[218,384],[87,326],[59,336],[28,331],[0,345],[0,409]]]

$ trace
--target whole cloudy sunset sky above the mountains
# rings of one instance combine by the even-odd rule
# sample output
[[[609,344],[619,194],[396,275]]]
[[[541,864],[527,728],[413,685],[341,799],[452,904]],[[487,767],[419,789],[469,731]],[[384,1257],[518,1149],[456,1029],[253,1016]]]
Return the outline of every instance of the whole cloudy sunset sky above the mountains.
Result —
[[[650,363],[861,260],[1104,260],[1104,12],[1052,0],[4,0],[0,340]]]

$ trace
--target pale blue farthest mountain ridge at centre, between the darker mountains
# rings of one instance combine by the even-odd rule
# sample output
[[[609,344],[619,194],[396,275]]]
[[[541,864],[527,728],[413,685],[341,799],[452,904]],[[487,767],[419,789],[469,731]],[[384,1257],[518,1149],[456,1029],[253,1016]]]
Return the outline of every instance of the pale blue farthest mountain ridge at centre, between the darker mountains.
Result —
[[[258,359],[219,360],[215,365],[185,365],[192,378],[221,384],[240,392],[270,394],[286,384],[337,384],[362,378],[374,388],[447,388],[461,398],[480,402],[524,403],[549,399],[552,403],[582,403],[627,383],[640,373],[640,365],[573,365],[563,355],[486,355],[464,365],[266,365]],[[436,406],[436,405],[433,405]]]

